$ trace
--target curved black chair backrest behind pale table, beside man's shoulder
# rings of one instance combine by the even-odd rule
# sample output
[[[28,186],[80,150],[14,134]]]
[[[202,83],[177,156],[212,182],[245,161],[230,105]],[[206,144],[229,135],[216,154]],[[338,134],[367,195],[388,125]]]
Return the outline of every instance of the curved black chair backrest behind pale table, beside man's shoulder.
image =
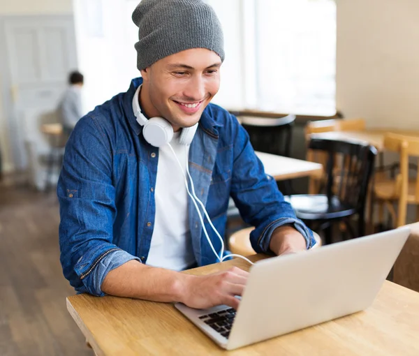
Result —
[[[256,151],[289,157],[295,115],[277,119],[266,117],[240,117]]]

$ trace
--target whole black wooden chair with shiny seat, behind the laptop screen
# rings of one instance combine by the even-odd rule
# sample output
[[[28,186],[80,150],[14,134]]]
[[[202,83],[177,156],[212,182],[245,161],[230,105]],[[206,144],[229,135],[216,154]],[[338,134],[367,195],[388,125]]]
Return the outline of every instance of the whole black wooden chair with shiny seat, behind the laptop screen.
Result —
[[[313,230],[324,230],[326,244],[332,242],[332,223],[338,221],[345,223],[352,237],[365,235],[365,205],[376,148],[366,142],[324,140],[313,135],[309,149],[328,157],[325,192],[286,197],[297,217]],[[351,224],[352,216],[358,216],[357,231]]]

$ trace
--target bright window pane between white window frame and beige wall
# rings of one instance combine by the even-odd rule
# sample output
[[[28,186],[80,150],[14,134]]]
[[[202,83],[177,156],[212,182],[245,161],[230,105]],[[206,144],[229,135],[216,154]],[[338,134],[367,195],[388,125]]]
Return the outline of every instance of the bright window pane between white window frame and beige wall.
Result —
[[[258,106],[335,114],[335,1],[258,0],[255,7]]]

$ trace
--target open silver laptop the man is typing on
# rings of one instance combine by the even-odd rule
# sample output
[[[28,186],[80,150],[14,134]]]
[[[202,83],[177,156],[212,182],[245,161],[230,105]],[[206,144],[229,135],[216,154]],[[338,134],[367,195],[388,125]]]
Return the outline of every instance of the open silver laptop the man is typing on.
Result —
[[[175,306],[227,350],[346,316],[372,304],[409,233],[404,227],[261,260],[237,311]]]

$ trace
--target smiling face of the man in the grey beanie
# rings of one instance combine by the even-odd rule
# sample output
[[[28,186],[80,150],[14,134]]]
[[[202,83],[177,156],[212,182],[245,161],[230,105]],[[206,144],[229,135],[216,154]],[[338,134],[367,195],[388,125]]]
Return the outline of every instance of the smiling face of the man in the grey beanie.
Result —
[[[141,71],[143,109],[150,117],[168,120],[174,131],[193,126],[219,91],[220,66],[220,57],[205,48],[185,50],[156,61]]]

